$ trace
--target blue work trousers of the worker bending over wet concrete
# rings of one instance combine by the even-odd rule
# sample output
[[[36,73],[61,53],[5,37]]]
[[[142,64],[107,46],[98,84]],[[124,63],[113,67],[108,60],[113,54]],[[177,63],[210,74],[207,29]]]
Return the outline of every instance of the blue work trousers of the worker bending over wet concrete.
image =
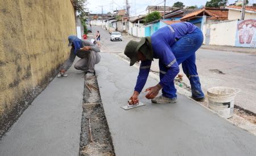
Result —
[[[181,37],[174,45],[171,46],[171,50],[176,57],[177,64],[182,64],[182,69],[190,81],[192,96],[195,98],[204,97],[204,93],[201,90],[199,75],[196,70],[195,54],[196,50],[201,47],[203,40],[203,33],[199,28],[197,28],[194,32]],[[160,71],[167,71],[166,65],[164,65],[161,60],[159,60],[159,69]],[[163,77],[164,73],[160,72],[160,79]],[[163,87],[162,93],[163,96],[168,98],[177,97],[174,81],[170,82],[170,85]]]

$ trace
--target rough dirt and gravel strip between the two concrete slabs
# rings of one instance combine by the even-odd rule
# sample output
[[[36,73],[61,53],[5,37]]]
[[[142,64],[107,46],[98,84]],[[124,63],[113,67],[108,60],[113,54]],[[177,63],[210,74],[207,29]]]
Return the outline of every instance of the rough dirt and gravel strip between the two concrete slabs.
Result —
[[[85,84],[88,83],[98,88],[95,76],[85,75]],[[115,155],[100,92],[85,85],[84,104],[91,105],[84,107],[82,112],[80,155]]]

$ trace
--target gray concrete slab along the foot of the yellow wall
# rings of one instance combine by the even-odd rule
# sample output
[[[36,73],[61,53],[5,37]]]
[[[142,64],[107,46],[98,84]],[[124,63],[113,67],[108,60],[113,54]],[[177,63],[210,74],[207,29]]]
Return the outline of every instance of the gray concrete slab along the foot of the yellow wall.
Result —
[[[77,60],[75,60],[77,61]],[[0,141],[0,155],[79,155],[84,72],[55,78]]]

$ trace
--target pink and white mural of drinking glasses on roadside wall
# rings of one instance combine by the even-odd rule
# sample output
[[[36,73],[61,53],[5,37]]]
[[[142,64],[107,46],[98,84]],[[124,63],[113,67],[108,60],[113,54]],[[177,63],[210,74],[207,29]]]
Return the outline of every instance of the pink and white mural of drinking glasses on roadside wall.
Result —
[[[256,19],[237,22],[236,46],[256,48]]]

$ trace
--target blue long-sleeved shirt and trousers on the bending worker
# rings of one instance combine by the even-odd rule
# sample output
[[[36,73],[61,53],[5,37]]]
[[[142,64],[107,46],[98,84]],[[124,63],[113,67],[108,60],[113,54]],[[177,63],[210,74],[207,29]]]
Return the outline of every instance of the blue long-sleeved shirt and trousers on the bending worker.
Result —
[[[190,83],[192,96],[203,98],[199,76],[196,70],[196,50],[203,43],[203,33],[188,22],[180,22],[158,29],[151,36],[153,58],[159,59],[159,84],[163,87],[163,96],[175,98],[174,78],[179,73],[182,63],[184,73]],[[150,71],[151,60],[141,61],[135,91],[141,92]]]

